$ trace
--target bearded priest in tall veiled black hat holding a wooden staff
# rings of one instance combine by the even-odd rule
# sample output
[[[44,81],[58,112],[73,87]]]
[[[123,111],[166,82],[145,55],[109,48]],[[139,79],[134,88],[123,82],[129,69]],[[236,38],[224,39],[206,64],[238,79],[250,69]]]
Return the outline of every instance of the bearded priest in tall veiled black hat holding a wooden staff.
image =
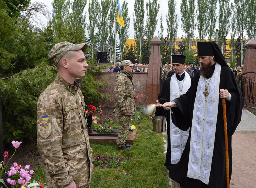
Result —
[[[163,104],[172,121],[189,130],[180,161],[169,177],[182,188],[226,188],[225,136],[222,98],[226,99],[229,174],[232,172],[231,136],[242,115],[242,93],[216,42],[198,42],[201,69],[186,94]]]

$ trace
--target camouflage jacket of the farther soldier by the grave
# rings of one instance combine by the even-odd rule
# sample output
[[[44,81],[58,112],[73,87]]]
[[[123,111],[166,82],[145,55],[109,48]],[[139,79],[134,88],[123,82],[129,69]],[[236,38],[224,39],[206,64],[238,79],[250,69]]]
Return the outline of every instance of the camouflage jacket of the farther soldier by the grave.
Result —
[[[116,116],[121,115],[120,112],[126,110],[127,116],[135,115],[135,90],[132,83],[133,75],[121,71],[116,75],[115,82],[115,114]]]

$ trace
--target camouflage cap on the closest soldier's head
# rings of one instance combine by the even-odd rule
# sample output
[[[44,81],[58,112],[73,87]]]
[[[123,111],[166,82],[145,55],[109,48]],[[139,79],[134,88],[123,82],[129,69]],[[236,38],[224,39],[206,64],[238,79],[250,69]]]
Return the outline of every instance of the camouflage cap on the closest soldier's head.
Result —
[[[86,43],[82,44],[72,44],[70,42],[60,42],[55,44],[53,48],[49,51],[48,59],[51,63],[54,63],[55,66],[59,63],[59,60],[68,52],[68,51],[77,51],[82,50],[83,52],[87,48]]]

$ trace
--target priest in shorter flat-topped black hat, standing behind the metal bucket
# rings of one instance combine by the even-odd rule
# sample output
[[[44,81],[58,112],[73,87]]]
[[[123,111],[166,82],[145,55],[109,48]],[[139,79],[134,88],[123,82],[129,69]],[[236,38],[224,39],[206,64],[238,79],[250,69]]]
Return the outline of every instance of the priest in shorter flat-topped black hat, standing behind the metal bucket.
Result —
[[[170,102],[186,93],[190,88],[193,76],[190,76],[184,70],[186,66],[185,60],[185,55],[172,55],[172,66],[175,73],[165,80],[162,90],[158,95],[157,104]],[[161,115],[163,116],[167,115],[167,153],[165,166],[170,170],[170,166],[177,164],[180,160],[188,139],[189,130],[182,131],[172,123],[170,110],[167,111],[167,114],[165,110],[162,113]]]

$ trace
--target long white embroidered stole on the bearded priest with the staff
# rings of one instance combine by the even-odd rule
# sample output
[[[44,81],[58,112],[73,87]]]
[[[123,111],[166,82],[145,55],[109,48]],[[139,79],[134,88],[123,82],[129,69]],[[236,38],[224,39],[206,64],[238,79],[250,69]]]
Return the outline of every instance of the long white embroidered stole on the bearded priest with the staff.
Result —
[[[187,177],[209,183],[219,104],[221,66],[216,63],[212,78],[207,80],[209,95],[205,98],[205,77],[200,76],[191,127]],[[210,80],[211,79],[211,80]],[[207,86],[207,85],[206,85]]]

